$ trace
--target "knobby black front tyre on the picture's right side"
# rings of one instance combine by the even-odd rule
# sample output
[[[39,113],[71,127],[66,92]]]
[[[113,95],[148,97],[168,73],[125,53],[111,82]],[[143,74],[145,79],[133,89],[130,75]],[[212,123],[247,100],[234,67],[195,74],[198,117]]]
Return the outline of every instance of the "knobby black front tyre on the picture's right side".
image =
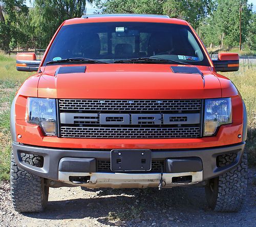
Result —
[[[218,159],[218,165],[230,164],[236,155],[231,153]],[[208,180],[205,195],[209,207],[217,212],[237,212],[241,209],[247,190],[247,155],[241,163],[223,175]]]

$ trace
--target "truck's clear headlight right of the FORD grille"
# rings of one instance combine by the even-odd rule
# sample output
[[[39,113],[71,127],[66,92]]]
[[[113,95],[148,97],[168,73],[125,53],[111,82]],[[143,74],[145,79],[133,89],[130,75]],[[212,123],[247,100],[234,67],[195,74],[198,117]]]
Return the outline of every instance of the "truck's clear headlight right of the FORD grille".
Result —
[[[213,135],[220,125],[230,123],[232,123],[230,98],[205,99],[204,135]]]

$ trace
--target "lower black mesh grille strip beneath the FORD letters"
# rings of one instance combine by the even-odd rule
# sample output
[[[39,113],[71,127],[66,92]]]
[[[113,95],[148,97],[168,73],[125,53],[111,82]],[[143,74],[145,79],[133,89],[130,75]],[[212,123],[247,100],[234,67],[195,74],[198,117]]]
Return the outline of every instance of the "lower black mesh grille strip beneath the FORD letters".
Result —
[[[113,127],[67,127],[62,126],[61,137],[65,138],[116,138],[116,139],[159,139],[197,138],[200,127],[177,128],[113,128]]]

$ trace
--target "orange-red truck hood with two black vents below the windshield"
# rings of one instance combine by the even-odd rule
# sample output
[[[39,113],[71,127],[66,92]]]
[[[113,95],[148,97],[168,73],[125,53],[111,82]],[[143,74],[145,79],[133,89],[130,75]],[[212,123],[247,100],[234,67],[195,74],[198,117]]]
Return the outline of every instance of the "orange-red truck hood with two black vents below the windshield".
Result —
[[[221,85],[210,67],[202,72],[174,73],[168,64],[87,64],[83,71],[46,66],[38,97],[67,99],[201,99],[221,97]],[[186,66],[190,67],[190,66]],[[57,71],[57,73],[56,73]],[[68,71],[66,73],[65,71]],[[62,72],[62,73],[59,73]],[[63,73],[64,72],[64,73]]]

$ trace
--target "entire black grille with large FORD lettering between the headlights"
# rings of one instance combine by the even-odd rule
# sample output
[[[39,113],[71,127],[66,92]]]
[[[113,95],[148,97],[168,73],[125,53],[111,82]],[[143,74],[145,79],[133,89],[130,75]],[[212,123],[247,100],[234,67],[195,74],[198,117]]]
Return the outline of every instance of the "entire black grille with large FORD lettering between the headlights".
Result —
[[[191,122],[191,115],[202,112],[202,100],[200,99],[59,99],[58,107],[58,117],[64,116],[65,113],[69,115],[65,115],[67,117],[65,120],[59,121],[59,136],[63,138],[170,139],[201,137],[199,117],[197,117],[198,121]],[[120,116],[122,113],[126,116],[127,114],[130,115],[130,123],[122,124],[122,121],[124,121],[124,117]],[[134,113],[141,114],[141,117],[138,117],[139,123],[137,125],[132,123]],[[143,116],[144,113],[145,116]],[[161,114],[162,123],[155,124],[152,121],[154,117],[150,115],[151,113]],[[169,118],[169,122],[175,122],[175,124],[163,123],[163,116],[168,113],[173,115]],[[100,115],[108,114],[105,123],[101,124]],[[71,121],[67,120],[68,117]]]

